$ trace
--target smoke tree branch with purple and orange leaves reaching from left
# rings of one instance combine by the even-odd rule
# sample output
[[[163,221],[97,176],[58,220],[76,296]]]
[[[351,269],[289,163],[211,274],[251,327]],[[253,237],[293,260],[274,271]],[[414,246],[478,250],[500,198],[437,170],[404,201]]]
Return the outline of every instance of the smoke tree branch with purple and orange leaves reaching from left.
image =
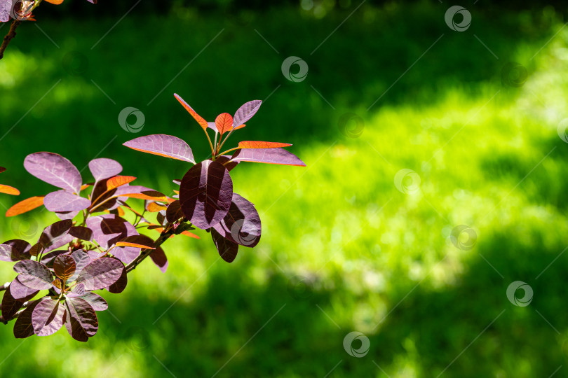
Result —
[[[234,116],[222,113],[215,122],[207,122],[181,97],[175,97],[205,132],[210,159],[196,162],[189,145],[171,135],[148,135],[124,144],[191,165],[181,180],[173,180],[179,188],[171,198],[134,185],[136,178],[121,175],[122,167],[115,160],[91,160],[88,167],[93,181],[84,183],[79,170],[61,155],[39,152],[25,158],[27,172],[58,190],[23,200],[8,209],[6,216],[43,206],[60,221],[48,225],[37,240],[0,244],[0,260],[13,263],[16,273],[0,287],[4,290],[0,321],[15,320],[15,337],[48,336],[65,325],[69,335],[86,342],[97,333],[96,311],[108,308],[100,290],[122,293],[128,273],[147,257],[165,272],[168,258],[161,245],[175,235],[199,239],[191,230],[207,230],[226,262],[236,258],[239,246],[258,244],[259,214],[254,204],[234,193],[230,171],[241,162],[305,166],[304,162],[283,149],[290,146],[283,143],[241,141],[221,152],[231,134],[255,115],[261,101],[247,102]],[[215,134],[213,141],[210,134]],[[0,167],[0,173],[4,170]],[[4,185],[0,192],[20,194]],[[131,200],[143,200],[144,209],[131,207]],[[141,235],[139,230],[144,228],[154,230],[158,237]]]

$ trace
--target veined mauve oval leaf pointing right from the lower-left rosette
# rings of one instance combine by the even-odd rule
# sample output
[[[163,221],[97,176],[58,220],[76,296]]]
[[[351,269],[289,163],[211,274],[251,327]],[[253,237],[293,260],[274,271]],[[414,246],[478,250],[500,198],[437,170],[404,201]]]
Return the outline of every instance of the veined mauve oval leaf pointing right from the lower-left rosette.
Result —
[[[98,258],[83,268],[77,283],[83,283],[85,290],[108,288],[119,280],[124,265],[114,258]]]

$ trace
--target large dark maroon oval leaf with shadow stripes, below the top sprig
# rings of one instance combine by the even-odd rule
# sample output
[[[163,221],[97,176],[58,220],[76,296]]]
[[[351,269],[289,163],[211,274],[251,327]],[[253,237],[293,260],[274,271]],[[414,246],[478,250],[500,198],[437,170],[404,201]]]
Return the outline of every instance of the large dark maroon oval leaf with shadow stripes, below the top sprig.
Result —
[[[206,230],[226,215],[233,197],[233,181],[223,165],[204,160],[182,179],[180,203],[186,218]]]

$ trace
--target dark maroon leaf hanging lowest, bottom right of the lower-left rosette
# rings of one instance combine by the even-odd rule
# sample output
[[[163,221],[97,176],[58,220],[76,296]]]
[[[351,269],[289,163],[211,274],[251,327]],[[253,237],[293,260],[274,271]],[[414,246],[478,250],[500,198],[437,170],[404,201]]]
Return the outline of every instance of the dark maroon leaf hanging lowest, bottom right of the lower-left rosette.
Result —
[[[89,337],[97,333],[99,328],[95,309],[80,297],[68,297],[65,304],[67,305],[65,321],[67,332],[77,341],[86,342]]]

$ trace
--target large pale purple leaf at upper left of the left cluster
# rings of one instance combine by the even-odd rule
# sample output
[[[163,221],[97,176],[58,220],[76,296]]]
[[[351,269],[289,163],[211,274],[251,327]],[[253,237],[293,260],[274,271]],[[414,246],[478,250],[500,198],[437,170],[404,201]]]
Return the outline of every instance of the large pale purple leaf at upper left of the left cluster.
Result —
[[[33,176],[53,186],[79,193],[81,174],[79,170],[57,153],[32,153],[24,160],[24,167]]]

